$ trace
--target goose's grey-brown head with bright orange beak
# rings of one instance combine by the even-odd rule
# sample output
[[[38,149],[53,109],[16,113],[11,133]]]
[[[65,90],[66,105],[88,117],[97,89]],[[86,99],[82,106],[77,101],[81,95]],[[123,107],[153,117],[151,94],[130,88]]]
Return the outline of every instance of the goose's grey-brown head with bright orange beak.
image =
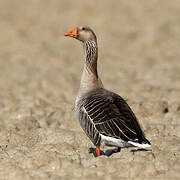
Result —
[[[89,40],[96,42],[96,35],[93,30],[85,26],[76,27],[72,31],[69,31],[64,35],[78,39],[83,43]]]

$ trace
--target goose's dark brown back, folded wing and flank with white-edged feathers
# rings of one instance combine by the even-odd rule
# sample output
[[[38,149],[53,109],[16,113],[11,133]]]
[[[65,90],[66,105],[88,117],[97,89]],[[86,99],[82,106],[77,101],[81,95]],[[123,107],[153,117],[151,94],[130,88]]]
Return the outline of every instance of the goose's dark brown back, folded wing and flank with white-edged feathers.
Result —
[[[91,91],[76,104],[80,125],[94,145],[102,137],[126,142],[148,143],[137,118],[125,100],[103,88]],[[112,142],[106,145],[113,145]]]

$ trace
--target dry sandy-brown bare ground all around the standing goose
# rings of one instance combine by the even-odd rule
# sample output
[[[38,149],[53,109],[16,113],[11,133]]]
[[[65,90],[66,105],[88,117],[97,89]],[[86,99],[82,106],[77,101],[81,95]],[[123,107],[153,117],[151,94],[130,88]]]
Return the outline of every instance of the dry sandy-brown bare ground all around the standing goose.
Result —
[[[77,25],[95,30],[103,83],[152,151],[88,153],[74,112],[82,45],[63,36]],[[180,179],[179,0],[1,0],[0,47],[0,179]]]

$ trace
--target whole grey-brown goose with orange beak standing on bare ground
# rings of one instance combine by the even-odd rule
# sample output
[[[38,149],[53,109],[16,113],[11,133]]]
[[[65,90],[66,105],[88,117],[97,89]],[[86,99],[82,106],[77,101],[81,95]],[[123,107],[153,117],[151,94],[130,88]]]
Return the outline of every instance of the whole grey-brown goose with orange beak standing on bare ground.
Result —
[[[129,105],[118,94],[106,90],[98,76],[97,38],[92,29],[77,27],[64,35],[83,43],[85,61],[75,110],[82,129],[95,146],[95,156],[101,155],[102,144],[116,147],[116,152],[123,147],[150,147]]]

